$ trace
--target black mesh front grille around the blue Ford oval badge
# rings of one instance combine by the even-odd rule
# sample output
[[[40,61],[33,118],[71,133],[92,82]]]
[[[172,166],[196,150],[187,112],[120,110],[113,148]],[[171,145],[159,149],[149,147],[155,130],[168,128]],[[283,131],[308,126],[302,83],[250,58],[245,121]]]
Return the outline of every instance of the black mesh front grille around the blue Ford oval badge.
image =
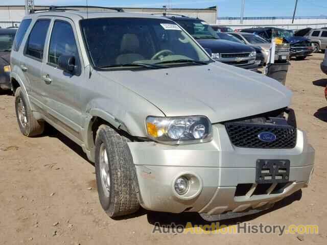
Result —
[[[289,125],[226,122],[230,141],[241,148],[292,149],[296,145],[296,129]],[[272,142],[259,139],[259,134],[270,132],[276,135]]]

